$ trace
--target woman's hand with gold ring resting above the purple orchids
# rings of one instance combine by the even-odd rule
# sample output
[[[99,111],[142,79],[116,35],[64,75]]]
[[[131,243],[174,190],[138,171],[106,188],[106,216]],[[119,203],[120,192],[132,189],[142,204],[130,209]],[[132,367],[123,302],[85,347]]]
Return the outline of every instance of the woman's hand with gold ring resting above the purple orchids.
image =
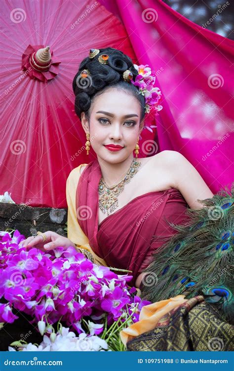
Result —
[[[21,247],[37,247],[42,251],[49,251],[55,249],[58,246],[66,249],[69,246],[76,247],[76,245],[67,237],[63,237],[60,234],[52,231],[43,232],[46,235],[46,240],[43,241],[42,235],[30,236],[19,243]]]

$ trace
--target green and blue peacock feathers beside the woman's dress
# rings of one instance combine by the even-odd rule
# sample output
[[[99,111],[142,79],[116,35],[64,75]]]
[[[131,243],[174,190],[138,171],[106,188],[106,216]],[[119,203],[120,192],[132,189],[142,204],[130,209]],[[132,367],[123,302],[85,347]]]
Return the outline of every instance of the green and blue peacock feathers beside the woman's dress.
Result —
[[[187,299],[203,295],[233,323],[234,183],[231,192],[226,186],[198,201],[204,206],[188,208],[188,222],[167,221],[177,232],[161,239],[153,262],[144,270],[142,298],[156,302],[179,294]]]

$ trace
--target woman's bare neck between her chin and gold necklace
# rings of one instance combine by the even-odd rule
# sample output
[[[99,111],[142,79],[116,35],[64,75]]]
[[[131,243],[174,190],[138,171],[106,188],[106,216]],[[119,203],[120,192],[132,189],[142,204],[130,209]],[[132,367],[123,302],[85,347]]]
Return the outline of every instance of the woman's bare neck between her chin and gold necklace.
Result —
[[[120,182],[127,174],[133,160],[133,154],[117,164],[107,162],[99,156],[97,156],[97,159],[101,168],[102,177],[106,184],[111,187],[112,185],[116,185],[118,182]]]

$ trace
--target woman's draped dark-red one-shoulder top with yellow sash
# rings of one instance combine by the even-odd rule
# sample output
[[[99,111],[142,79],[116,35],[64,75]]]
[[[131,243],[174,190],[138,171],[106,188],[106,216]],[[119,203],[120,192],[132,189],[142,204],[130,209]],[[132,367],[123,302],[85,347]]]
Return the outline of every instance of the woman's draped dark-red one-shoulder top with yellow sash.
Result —
[[[134,285],[162,238],[175,233],[168,221],[181,224],[187,219],[188,204],[176,188],[147,192],[98,225],[100,165],[90,162],[80,176],[81,166],[67,181],[68,238],[92,252],[98,264],[130,270]]]

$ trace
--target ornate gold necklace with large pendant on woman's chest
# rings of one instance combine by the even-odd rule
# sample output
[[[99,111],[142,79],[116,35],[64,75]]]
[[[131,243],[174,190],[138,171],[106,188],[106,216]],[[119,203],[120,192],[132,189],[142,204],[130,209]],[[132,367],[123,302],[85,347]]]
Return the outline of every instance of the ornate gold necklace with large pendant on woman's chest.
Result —
[[[118,207],[117,196],[123,191],[124,185],[129,183],[131,178],[138,172],[140,165],[141,162],[136,161],[134,158],[125,177],[111,187],[108,187],[103,177],[101,177],[98,186],[99,208],[104,214],[107,212],[107,215],[110,215]]]

